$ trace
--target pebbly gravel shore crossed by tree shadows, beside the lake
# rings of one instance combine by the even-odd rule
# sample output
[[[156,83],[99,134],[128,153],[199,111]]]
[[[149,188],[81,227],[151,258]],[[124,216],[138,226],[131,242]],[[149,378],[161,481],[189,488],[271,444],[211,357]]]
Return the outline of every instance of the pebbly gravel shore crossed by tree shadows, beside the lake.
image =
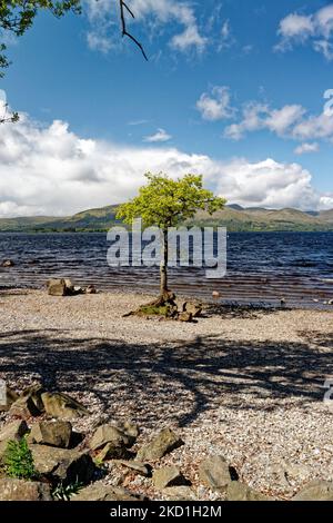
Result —
[[[212,453],[279,499],[333,481],[333,406],[323,402],[333,312],[212,307],[193,324],[122,317],[150,299],[2,292],[0,377],[83,402],[91,416],[77,428],[130,418],[147,441],[175,427],[185,445],[161,464],[180,465],[201,500],[214,499],[198,483],[198,464]],[[105,481],[120,482],[111,468]],[[159,497],[148,480],[128,477],[127,486]]]

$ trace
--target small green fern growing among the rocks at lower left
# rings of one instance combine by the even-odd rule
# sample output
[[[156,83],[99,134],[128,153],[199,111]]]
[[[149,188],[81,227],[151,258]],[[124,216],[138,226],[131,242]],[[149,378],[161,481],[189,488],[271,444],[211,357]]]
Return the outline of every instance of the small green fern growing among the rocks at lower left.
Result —
[[[18,480],[33,480],[38,476],[32,453],[27,440],[8,442],[3,456],[6,474]]]

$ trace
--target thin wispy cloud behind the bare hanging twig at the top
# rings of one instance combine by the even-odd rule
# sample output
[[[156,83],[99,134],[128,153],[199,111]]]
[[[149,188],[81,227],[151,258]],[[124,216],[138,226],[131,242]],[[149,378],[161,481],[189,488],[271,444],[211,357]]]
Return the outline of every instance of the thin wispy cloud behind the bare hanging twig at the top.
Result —
[[[119,27],[118,1],[83,0],[83,6],[90,22],[87,37],[89,47],[108,52],[114,47],[114,33]],[[163,27],[176,27],[176,33],[169,41],[173,49],[181,52],[194,49],[199,53],[205,49],[208,39],[201,34],[194,9],[186,1],[131,0],[130,7],[135,19],[128,17],[129,28],[138,21],[153,36]]]

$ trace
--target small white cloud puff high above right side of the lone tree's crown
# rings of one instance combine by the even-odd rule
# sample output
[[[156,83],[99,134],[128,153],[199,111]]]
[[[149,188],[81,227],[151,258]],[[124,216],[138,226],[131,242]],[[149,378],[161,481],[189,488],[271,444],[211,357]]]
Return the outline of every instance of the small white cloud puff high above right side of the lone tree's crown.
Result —
[[[230,105],[230,90],[228,87],[215,86],[211,93],[203,92],[196,101],[196,109],[204,120],[216,121],[234,116]]]

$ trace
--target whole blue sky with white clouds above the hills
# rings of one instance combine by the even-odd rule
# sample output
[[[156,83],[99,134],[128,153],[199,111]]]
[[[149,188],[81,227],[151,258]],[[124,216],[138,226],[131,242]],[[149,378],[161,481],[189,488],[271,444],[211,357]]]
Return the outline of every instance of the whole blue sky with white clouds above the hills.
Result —
[[[1,216],[117,203],[150,169],[202,171],[242,205],[333,208],[331,1],[129,4],[148,62],[112,0],[41,14],[9,46],[0,89],[26,116],[0,129]]]

